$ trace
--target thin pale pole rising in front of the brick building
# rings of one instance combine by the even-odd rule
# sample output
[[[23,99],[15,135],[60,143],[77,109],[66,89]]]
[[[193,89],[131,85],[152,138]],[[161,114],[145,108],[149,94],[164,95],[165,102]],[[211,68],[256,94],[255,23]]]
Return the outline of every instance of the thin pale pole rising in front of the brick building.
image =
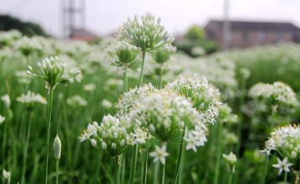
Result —
[[[229,49],[231,44],[231,25],[229,21],[229,0],[224,0],[223,49]]]

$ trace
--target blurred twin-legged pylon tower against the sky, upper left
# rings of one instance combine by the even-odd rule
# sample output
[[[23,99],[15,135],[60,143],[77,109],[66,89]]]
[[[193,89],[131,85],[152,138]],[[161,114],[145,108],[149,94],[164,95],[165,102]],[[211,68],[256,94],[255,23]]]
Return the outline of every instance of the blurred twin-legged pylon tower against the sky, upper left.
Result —
[[[85,0],[62,0],[62,34],[71,38],[77,29],[85,28]]]

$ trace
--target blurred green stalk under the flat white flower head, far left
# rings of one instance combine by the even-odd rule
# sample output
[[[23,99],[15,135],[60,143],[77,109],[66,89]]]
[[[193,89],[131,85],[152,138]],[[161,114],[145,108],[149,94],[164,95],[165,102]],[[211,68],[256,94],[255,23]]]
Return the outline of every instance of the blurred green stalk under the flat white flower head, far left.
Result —
[[[28,124],[27,124],[25,148],[23,150],[23,166],[22,166],[21,184],[25,183],[25,172],[26,172],[26,166],[27,166],[28,146],[29,146],[29,142],[30,142],[30,133],[31,133],[31,129],[32,129],[33,115],[34,115],[34,111],[31,109],[30,117],[29,117]]]

